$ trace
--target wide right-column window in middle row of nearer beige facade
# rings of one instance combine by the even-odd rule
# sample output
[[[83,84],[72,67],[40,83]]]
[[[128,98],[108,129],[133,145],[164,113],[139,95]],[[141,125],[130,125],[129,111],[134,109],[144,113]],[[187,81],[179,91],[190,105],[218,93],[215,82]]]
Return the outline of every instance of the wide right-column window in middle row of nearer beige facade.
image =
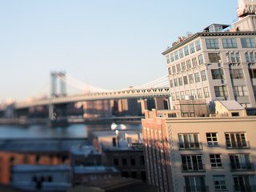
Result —
[[[230,170],[251,170],[249,154],[230,154]]]

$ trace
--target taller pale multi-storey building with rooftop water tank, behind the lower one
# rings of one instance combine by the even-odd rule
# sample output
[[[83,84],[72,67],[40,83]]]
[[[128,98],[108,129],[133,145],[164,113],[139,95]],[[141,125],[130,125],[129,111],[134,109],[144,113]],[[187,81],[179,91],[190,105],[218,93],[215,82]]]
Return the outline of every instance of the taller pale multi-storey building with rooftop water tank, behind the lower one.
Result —
[[[256,107],[256,16],[250,12],[256,1],[238,2],[242,8],[233,27],[212,24],[203,32],[178,38],[162,53],[172,101],[193,95],[208,103],[236,100],[244,107]]]

